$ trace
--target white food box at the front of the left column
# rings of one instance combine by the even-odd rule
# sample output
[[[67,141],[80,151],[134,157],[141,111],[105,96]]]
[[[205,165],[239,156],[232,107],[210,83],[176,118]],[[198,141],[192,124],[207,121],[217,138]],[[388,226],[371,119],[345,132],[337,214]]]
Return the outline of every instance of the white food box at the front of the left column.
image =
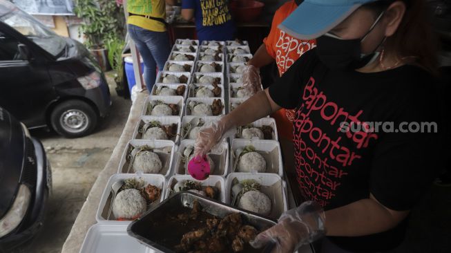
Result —
[[[160,202],[164,200],[164,190],[166,189],[166,180],[164,176],[162,175],[150,175],[150,174],[114,174],[110,177],[108,182],[106,183],[106,187],[104,189],[104,193],[102,194],[102,198],[100,199],[99,207],[97,208],[97,214],[95,216],[95,219],[97,220],[97,223],[117,223],[117,224],[128,224],[131,223],[131,221],[117,221],[115,218],[115,215],[113,214],[113,211],[111,211],[110,220],[107,220],[108,218],[108,211],[110,209],[110,205],[113,201],[113,193],[111,192],[111,187],[115,182],[119,182],[120,180],[126,180],[128,178],[136,178],[136,179],[142,179],[145,182],[145,186],[150,184],[154,185],[161,189],[160,199],[155,200],[153,203],[151,203],[149,208],[154,207],[155,205],[158,205]],[[144,186],[144,187],[145,187]]]

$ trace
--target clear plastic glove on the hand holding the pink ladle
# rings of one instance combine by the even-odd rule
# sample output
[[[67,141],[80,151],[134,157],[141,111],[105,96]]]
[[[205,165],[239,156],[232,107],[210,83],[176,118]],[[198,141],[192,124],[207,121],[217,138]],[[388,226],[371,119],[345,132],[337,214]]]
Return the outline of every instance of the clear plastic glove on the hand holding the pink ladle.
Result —
[[[195,139],[194,156],[203,157],[207,155],[222,139],[233,136],[235,133],[236,127],[226,129],[225,122],[222,119],[204,125],[200,129],[198,138]]]

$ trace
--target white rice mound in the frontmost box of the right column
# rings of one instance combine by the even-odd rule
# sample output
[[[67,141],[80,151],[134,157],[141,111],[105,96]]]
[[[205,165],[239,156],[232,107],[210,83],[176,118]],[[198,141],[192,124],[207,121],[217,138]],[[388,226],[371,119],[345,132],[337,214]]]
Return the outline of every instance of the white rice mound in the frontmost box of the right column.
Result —
[[[261,191],[247,191],[242,194],[238,207],[261,215],[271,213],[271,200]]]

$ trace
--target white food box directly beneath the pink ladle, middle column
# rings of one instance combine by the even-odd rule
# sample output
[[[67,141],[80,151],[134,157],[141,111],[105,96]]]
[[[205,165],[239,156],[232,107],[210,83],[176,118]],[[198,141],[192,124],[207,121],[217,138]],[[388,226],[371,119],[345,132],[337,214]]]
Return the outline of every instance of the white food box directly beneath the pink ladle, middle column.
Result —
[[[188,174],[186,164],[183,160],[183,152],[185,147],[189,145],[194,147],[194,140],[182,140],[180,142],[180,147],[178,148],[174,162],[175,175]],[[229,173],[229,144],[227,142],[221,142],[221,144],[210,151],[209,156],[215,162],[215,171],[211,175],[227,176]]]

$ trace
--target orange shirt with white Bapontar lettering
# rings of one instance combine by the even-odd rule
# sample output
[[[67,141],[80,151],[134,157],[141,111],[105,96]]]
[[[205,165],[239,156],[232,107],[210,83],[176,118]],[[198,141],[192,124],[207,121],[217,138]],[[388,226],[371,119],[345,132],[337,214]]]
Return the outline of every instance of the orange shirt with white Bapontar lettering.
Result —
[[[266,50],[271,57],[276,59],[279,75],[282,76],[291,65],[303,53],[316,46],[316,40],[301,40],[291,37],[291,35],[280,30],[278,25],[282,23],[298,6],[295,1],[289,1],[283,6],[280,6],[276,13],[274,13],[271,31],[268,37],[263,39]],[[294,110],[281,109],[272,115],[276,119],[278,133],[284,138],[293,139],[293,118]]]

